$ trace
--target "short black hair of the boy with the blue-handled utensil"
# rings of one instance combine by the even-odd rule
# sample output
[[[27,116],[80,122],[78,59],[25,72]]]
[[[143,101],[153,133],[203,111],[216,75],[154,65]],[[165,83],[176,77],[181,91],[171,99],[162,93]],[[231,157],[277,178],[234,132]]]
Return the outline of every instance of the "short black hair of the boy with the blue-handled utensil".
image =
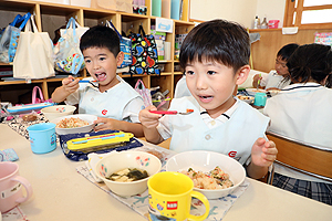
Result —
[[[106,48],[116,57],[120,52],[120,38],[113,29],[104,25],[95,25],[90,28],[80,41],[82,53],[90,48]]]

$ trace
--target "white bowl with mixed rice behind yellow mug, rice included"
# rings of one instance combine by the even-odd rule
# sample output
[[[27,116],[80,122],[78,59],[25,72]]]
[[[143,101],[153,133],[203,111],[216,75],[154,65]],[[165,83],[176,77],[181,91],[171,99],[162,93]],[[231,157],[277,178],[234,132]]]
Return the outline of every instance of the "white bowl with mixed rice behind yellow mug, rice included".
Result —
[[[237,160],[214,151],[193,150],[169,158],[166,171],[187,175],[194,189],[207,199],[230,194],[246,178],[246,170]]]

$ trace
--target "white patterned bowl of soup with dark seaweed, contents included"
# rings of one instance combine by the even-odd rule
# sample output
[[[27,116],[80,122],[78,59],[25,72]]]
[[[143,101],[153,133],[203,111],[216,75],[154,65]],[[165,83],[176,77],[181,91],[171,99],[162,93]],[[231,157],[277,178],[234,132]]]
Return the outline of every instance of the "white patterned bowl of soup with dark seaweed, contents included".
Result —
[[[162,169],[160,160],[145,151],[113,151],[95,166],[96,176],[112,192],[121,197],[139,194],[147,189],[147,180]]]

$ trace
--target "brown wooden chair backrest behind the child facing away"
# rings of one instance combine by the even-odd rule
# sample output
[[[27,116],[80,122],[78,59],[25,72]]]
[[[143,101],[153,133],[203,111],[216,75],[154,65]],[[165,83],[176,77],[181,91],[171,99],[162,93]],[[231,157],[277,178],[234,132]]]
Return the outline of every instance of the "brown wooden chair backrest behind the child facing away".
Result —
[[[332,149],[304,144],[271,131],[267,131],[267,137],[277,146],[277,164],[332,181]]]

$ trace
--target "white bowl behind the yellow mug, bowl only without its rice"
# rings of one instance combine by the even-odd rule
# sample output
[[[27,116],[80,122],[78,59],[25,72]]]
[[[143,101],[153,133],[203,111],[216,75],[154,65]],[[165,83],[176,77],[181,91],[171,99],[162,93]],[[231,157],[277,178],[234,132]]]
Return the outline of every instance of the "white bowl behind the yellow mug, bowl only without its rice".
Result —
[[[166,171],[183,171],[193,168],[196,171],[209,172],[215,167],[219,166],[221,170],[229,175],[229,179],[234,186],[226,189],[206,190],[194,188],[196,191],[205,194],[207,199],[218,199],[231,193],[237,187],[239,187],[245,178],[246,170],[241,164],[237,160],[214,151],[193,150],[184,151],[173,156],[167,160]]]

